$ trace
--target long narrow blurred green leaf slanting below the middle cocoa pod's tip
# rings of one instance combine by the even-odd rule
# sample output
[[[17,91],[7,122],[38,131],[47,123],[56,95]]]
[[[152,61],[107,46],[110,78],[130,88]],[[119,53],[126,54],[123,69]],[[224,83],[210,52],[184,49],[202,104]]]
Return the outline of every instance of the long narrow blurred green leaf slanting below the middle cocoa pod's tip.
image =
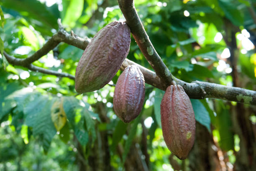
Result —
[[[133,138],[136,136],[137,126],[138,126],[138,123],[141,121],[141,116],[142,115],[139,115],[133,121],[133,125],[131,128],[131,131],[129,132],[128,139],[125,141],[125,148],[124,148],[124,152],[123,152],[123,156],[122,156],[123,164],[125,163],[126,156],[127,156],[128,152],[130,151],[130,147],[133,142]]]

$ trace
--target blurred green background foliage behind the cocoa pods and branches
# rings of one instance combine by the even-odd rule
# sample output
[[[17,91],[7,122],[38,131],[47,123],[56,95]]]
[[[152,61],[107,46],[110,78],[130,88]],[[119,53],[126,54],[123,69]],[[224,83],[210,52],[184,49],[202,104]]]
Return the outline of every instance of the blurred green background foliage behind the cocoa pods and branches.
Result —
[[[156,51],[174,76],[256,90],[256,1],[135,0]],[[58,31],[92,38],[124,17],[116,0],[0,0],[0,52],[27,58]],[[83,50],[59,44],[33,64],[75,74]],[[152,69],[132,38],[128,59]],[[115,84],[117,75],[110,82]],[[146,84],[144,108],[121,122],[114,87],[78,95],[74,80],[8,64],[0,55],[0,170],[253,170],[256,108],[191,99],[195,145],[180,161],[166,148],[160,103]]]

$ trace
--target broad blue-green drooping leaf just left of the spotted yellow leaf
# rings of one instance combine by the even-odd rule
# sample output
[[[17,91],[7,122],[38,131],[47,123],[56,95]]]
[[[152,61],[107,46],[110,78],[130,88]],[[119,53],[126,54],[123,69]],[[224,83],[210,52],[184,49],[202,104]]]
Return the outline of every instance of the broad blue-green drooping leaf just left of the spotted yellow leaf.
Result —
[[[56,99],[35,96],[35,94],[31,94],[29,98],[30,101],[24,104],[23,110],[25,123],[33,128],[33,135],[40,137],[44,151],[48,151],[51,140],[56,134],[54,123],[51,121],[51,106]]]

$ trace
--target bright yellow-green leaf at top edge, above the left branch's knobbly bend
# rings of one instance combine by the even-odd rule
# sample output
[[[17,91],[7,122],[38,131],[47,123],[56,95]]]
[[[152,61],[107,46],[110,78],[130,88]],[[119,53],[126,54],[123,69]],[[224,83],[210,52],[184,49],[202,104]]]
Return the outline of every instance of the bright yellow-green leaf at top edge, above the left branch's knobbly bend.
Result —
[[[63,20],[63,25],[68,25],[70,28],[73,28],[77,19],[82,15],[83,8],[84,0],[70,1]]]

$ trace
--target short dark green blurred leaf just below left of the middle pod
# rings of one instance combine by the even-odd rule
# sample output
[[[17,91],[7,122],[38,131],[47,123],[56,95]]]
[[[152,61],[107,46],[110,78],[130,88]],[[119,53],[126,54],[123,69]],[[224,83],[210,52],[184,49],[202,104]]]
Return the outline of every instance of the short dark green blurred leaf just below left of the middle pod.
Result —
[[[115,131],[113,133],[113,142],[110,147],[113,153],[115,152],[116,146],[118,145],[119,141],[122,139],[123,135],[126,132],[128,124],[123,123],[123,121],[119,120],[118,124],[115,126]]]

